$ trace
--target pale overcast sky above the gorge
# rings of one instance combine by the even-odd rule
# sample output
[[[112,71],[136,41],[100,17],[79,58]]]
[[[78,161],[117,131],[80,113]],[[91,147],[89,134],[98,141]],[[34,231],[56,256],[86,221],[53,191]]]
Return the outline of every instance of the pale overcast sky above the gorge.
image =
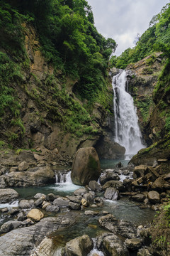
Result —
[[[95,26],[106,38],[115,39],[116,55],[132,48],[137,33],[144,33],[152,17],[169,0],[87,0],[94,13]]]

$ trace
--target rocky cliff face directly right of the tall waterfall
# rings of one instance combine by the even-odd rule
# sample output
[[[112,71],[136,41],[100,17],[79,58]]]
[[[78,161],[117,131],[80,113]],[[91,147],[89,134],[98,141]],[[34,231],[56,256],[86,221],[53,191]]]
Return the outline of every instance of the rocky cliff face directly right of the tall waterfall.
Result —
[[[129,89],[135,97],[137,113],[147,149],[131,160],[135,165],[152,165],[158,159],[170,159],[169,150],[169,65],[161,53],[149,55],[129,65]],[[149,65],[148,65],[149,63]],[[149,68],[148,68],[149,67]],[[151,74],[145,73],[149,69]]]

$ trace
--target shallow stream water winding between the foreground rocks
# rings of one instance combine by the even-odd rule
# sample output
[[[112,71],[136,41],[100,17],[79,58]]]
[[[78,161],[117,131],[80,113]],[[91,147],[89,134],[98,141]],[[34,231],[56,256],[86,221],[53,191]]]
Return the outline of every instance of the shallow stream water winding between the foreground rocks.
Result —
[[[127,166],[128,161],[122,161],[124,166]],[[118,164],[118,160],[103,160],[101,161],[101,168],[103,170],[109,169],[113,170],[115,164]],[[68,196],[72,195],[77,188],[81,188],[81,186],[76,186],[72,183],[71,172],[67,169],[60,170],[57,172],[56,175],[56,183],[50,186],[44,187],[29,187],[29,188],[14,188],[20,195],[20,198],[30,199],[35,196],[36,193],[44,193],[47,195],[48,193],[54,193],[55,195],[60,196]],[[120,174],[120,178],[125,178]],[[59,182],[60,181],[60,182]],[[98,196],[102,196],[103,194],[98,193]],[[1,204],[0,208],[4,207],[17,207],[18,201],[15,201],[13,204]],[[88,207],[86,210],[95,210],[100,213],[103,210],[106,210],[108,213],[112,213],[115,215],[115,218],[119,220],[129,220],[135,225],[147,225],[150,223],[154,218],[154,211],[150,208],[140,208],[140,206],[133,202],[129,201],[128,198],[122,197],[118,201],[111,201],[111,200],[104,200],[103,207],[98,208],[91,208]],[[64,215],[67,213],[68,210],[62,210],[61,213]],[[91,238],[96,238],[98,235],[101,235],[103,232],[106,232],[103,228],[100,227],[98,224],[98,215],[84,215],[84,211],[74,211],[77,213],[76,221],[74,225],[69,226],[67,230],[57,230],[55,233],[52,234],[52,239],[54,241],[56,247],[56,254],[60,256],[60,248],[64,247],[66,242],[77,238],[81,235],[89,235]],[[55,215],[55,214],[54,214]],[[6,220],[3,218],[0,219],[1,224],[4,223]],[[96,253],[97,250],[94,248],[94,252]],[[94,253],[93,252],[93,253]],[[91,254],[89,255],[93,255]],[[97,252],[98,255],[103,255],[102,252]]]

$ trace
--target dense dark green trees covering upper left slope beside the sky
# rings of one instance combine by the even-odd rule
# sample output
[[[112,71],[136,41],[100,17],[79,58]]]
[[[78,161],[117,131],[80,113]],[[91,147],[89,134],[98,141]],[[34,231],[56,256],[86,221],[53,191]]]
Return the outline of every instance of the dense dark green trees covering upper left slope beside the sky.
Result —
[[[106,88],[108,59],[116,43],[98,33],[87,1],[9,0],[8,3],[37,28],[47,61],[61,70],[62,75],[77,80],[74,92],[81,99],[94,102],[98,92]]]

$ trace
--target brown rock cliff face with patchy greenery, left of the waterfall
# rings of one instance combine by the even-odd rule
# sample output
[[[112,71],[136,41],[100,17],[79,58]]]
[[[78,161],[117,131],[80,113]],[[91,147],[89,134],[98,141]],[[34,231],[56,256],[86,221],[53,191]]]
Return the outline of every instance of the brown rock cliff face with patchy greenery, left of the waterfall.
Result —
[[[34,28],[26,23],[23,28],[28,63],[21,67],[20,80],[11,84],[20,105],[19,119],[6,109],[1,118],[1,138],[14,148],[44,146],[50,151],[57,148],[67,160],[81,147],[101,145],[102,139],[113,133],[111,78],[107,81],[107,102],[86,107],[87,102],[81,102],[73,92],[77,80],[65,78],[60,70],[54,70],[40,51]],[[107,158],[106,155],[101,157]]]

